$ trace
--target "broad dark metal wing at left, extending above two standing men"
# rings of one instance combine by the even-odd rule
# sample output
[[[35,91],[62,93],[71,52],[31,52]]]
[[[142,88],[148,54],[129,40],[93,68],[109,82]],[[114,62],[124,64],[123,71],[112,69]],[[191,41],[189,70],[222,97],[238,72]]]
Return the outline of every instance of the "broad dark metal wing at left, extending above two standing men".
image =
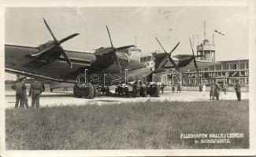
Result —
[[[38,51],[38,47],[6,45],[6,71],[52,81],[76,82],[76,76],[80,74],[80,70],[91,67],[91,64],[97,60],[92,53],[65,50],[72,62],[72,68],[70,68],[67,59],[62,55],[50,62],[32,57],[32,54]]]

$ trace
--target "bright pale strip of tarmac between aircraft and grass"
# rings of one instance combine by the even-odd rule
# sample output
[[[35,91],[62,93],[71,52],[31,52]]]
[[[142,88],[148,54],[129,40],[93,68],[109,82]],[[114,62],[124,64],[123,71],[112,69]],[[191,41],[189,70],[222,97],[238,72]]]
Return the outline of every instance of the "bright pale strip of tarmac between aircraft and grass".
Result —
[[[28,91],[27,91],[28,93]],[[112,91],[113,93],[113,91]],[[171,91],[164,91],[160,97],[125,97],[113,96],[106,97],[100,95],[94,99],[76,98],[73,96],[72,91],[56,91],[54,93],[43,92],[40,97],[40,106],[61,106],[61,105],[87,105],[87,104],[112,104],[112,103],[124,103],[124,102],[143,102],[147,100],[153,101],[209,101],[209,92],[206,92],[205,96],[202,96],[202,92],[198,91],[182,91],[181,93],[172,93]],[[242,99],[249,99],[249,93],[242,93]],[[228,92],[227,95],[221,92],[220,100],[236,100],[235,92]],[[15,105],[15,91],[6,90],[6,108],[14,108]],[[31,106],[31,97],[28,97],[28,105]]]

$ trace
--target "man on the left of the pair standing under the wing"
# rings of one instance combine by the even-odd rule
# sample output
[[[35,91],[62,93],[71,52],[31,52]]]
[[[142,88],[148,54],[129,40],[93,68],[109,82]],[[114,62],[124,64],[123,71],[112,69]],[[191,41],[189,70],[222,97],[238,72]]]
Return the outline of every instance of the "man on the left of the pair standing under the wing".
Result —
[[[16,90],[15,108],[19,107],[19,102],[20,108],[24,108],[24,90],[26,90],[26,86],[22,81],[22,78],[17,80],[17,82],[12,86],[12,89]]]

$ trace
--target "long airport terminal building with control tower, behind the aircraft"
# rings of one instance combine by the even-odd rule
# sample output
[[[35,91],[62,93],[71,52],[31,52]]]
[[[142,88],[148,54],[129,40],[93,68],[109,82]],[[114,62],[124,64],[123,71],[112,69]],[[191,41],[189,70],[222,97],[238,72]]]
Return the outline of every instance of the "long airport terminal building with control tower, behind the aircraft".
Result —
[[[155,81],[161,79],[167,86],[175,86],[182,82],[183,86],[198,86],[206,81],[209,85],[212,81],[223,83],[227,82],[229,86],[240,80],[242,86],[249,84],[249,60],[225,60],[215,61],[214,46],[210,45],[208,40],[204,40],[197,46],[197,54],[203,54],[204,57],[198,58],[198,75],[195,72],[194,63],[191,62],[185,68],[181,68],[182,75],[175,69],[170,69],[161,74],[154,74]]]

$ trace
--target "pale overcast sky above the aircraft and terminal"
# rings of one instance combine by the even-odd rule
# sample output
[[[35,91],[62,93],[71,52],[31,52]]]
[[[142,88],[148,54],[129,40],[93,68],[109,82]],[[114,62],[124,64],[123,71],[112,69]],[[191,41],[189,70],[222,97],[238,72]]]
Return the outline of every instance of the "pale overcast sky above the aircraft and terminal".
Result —
[[[56,38],[80,35],[62,44],[65,49],[87,51],[110,46],[106,24],[114,46],[135,44],[143,52],[160,50],[157,36],[166,50],[181,42],[173,55],[191,53],[189,38],[215,35],[216,60],[248,59],[248,8],[220,7],[91,7],[91,8],[6,8],[6,43],[38,46],[51,40],[43,17]],[[195,40],[195,42],[197,42]]]

